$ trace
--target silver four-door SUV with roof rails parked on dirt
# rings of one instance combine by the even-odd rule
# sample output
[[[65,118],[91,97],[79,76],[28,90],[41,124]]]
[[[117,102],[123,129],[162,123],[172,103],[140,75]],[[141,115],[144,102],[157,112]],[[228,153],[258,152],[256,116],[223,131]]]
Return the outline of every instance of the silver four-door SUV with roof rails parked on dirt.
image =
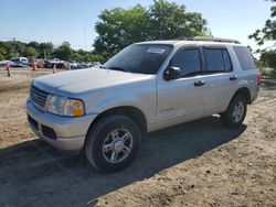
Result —
[[[85,149],[94,167],[115,172],[130,164],[147,132],[213,113],[241,126],[258,86],[253,56],[237,41],[144,42],[102,68],[36,78],[28,120],[53,146]]]

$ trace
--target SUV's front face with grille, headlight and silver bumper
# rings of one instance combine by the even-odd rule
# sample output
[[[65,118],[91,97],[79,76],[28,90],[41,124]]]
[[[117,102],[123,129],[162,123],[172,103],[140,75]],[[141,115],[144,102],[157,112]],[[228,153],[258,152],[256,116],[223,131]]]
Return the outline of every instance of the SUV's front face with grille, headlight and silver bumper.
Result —
[[[83,100],[57,96],[34,84],[26,101],[28,121],[33,132],[53,146],[79,151],[96,115],[86,115]]]

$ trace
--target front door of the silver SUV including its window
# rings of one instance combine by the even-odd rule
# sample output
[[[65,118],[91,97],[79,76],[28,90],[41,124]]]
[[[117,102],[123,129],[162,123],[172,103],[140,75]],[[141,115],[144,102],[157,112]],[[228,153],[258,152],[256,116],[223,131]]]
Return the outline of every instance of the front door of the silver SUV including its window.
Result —
[[[181,77],[169,81],[163,78],[157,80],[157,115],[160,127],[199,118],[205,107],[205,80],[200,48],[178,51],[169,67],[179,67]]]

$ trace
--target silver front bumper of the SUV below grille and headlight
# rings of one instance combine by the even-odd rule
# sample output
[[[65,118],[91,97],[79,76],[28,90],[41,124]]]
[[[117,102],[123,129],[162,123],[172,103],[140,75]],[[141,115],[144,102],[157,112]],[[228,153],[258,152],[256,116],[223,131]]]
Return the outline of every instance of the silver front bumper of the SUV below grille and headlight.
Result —
[[[26,101],[28,122],[33,132],[54,148],[64,151],[79,151],[91,123],[97,115],[84,117],[61,117],[39,110]]]

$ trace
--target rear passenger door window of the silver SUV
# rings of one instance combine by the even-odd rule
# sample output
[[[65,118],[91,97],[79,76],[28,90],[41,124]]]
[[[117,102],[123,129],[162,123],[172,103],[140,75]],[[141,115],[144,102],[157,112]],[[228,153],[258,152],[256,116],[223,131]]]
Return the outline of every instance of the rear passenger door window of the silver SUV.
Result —
[[[226,48],[204,48],[208,73],[231,72],[232,64]]]

